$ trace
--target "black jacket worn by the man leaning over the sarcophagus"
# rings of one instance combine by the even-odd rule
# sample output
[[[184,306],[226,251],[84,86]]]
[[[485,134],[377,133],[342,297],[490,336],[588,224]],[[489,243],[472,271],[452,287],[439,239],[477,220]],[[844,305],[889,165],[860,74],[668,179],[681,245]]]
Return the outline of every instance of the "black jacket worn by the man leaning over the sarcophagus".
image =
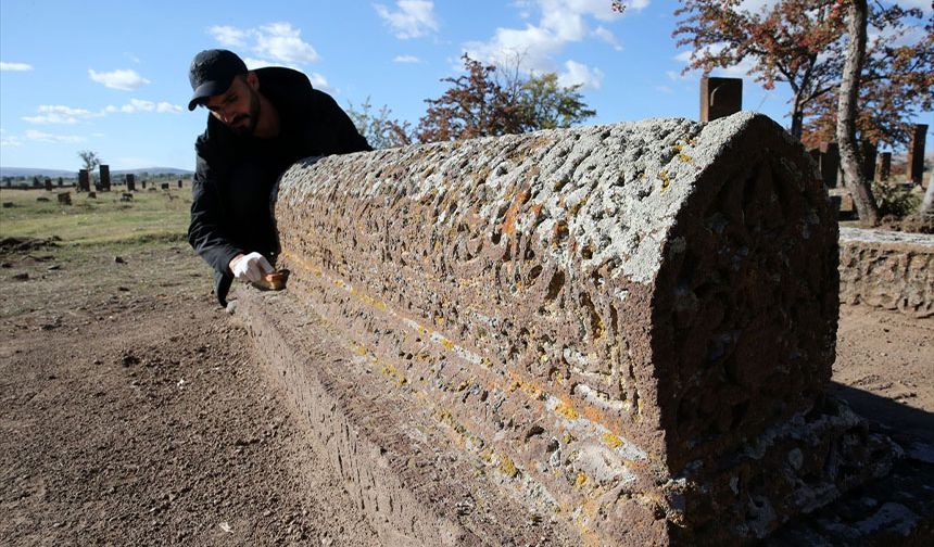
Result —
[[[228,265],[240,253],[272,257],[276,252],[269,192],[293,163],[373,150],[337,102],[313,89],[304,74],[282,67],[255,73],[260,92],[279,112],[279,136],[238,137],[209,115],[207,129],[194,143],[198,165],[188,241],[214,268],[215,278],[229,278]]]

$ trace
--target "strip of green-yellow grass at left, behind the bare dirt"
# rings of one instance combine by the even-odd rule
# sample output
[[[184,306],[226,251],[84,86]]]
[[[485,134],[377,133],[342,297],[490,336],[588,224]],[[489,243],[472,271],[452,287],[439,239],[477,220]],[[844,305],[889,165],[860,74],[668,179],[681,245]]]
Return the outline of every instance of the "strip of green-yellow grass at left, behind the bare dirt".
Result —
[[[72,192],[72,205],[58,203],[58,192],[0,190],[0,237],[51,238],[63,245],[126,243],[146,245],[185,241],[191,207],[191,191],[136,192],[132,202],[122,202],[122,192]],[[37,201],[47,198],[48,202]],[[12,204],[12,206],[5,206]]]

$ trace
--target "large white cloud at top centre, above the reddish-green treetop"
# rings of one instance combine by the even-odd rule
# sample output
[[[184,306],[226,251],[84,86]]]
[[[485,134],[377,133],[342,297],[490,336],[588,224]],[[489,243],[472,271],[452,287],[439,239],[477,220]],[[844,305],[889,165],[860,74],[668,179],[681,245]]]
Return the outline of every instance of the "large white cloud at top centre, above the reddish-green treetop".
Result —
[[[642,10],[647,0],[629,2],[630,10]],[[592,27],[593,22],[613,23],[623,16],[613,11],[609,0],[537,0],[519,4],[522,10],[538,8],[538,24],[527,23],[525,28],[496,28],[487,41],[470,41],[463,46],[464,51],[481,62],[500,66],[515,66],[526,73],[558,72],[561,64],[555,59],[569,43],[589,39],[605,41],[617,50],[622,46],[616,36],[603,24]],[[563,64],[560,75],[565,81],[576,80],[588,87],[598,87],[603,73],[580,63],[568,61]]]

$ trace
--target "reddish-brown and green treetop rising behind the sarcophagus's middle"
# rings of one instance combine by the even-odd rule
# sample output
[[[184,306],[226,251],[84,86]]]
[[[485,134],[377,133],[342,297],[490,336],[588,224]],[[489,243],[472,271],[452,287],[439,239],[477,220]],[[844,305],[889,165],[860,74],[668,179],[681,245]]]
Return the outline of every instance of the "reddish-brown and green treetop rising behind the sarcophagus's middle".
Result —
[[[420,142],[520,133],[570,127],[596,114],[586,107],[580,86],[561,87],[552,73],[523,79],[514,71],[460,58],[467,74],[443,78],[452,84],[439,99],[428,99],[418,122]]]

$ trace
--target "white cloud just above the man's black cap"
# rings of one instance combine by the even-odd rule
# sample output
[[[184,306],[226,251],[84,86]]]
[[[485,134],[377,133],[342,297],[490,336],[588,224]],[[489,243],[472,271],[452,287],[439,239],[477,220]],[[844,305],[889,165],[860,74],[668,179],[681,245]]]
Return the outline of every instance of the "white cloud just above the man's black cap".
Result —
[[[302,31],[290,23],[269,23],[254,28],[212,26],[207,34],[224,47],[242,48],[258,55],[243,56],[250,69],[267,65],[295,68],[320,59],[315,48],[302,40]]]

